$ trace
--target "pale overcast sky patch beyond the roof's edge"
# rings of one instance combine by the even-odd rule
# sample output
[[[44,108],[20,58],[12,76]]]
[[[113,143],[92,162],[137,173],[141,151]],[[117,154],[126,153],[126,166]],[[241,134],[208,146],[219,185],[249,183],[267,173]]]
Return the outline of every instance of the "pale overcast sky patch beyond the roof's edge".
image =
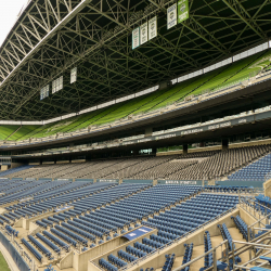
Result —
[[[0,0],[0,46],[4,41],[16,17],[28,0]]]

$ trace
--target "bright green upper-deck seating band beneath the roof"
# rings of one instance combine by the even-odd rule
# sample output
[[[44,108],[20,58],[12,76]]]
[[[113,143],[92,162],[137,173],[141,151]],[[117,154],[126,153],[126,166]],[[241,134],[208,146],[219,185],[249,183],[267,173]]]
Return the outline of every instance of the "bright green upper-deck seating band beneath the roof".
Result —
[[[105,108],[86,113],[80,116],[60,120],[44,126],[0,126],[0,140],[26,140],[44,138],[57,132],[73,132],[88,126],[105,125],[125,118],[163,108],[169,104],[181,102],[185,96],[198,95],[240,83],[256,76],[260,70],[270,67],[271,50],[254,54],[233,62],[207,74],[176,83],[171,88],[114,104]],[[15,132],[16,131],[16,132]]]

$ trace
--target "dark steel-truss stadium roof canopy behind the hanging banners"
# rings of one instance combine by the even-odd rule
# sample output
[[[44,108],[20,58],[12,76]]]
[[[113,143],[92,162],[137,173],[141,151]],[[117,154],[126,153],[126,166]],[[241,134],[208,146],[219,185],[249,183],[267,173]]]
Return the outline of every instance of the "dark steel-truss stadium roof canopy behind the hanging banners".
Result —
[[[267,41],[270,0],[31,0],[0,49],[0,118],[47,119],[127,95]],[[157,15],[158,36],[136,50],[131,31]],[[78,81],[70,85],[70,69]],[[64,76],[64,89],[40,89]]]

